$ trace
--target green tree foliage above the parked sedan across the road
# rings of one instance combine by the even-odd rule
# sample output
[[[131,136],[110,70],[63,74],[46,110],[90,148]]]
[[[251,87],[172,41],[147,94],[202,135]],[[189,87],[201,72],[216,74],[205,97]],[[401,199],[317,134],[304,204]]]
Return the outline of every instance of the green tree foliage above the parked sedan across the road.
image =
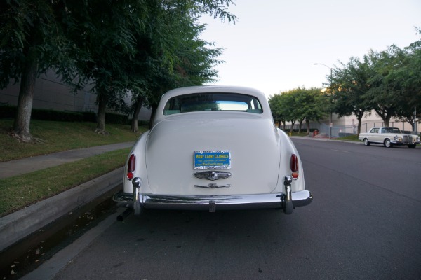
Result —
[[[354,114],[358,132],[361,119],[372,109],[385,125],[394,117],[414,127],[414,111],[421,104],[420,65],[421,41],[403,49],[392,45],[384,51],[370,50],[361,60],[340,62],[333,71],[333,111],[339,116]]]

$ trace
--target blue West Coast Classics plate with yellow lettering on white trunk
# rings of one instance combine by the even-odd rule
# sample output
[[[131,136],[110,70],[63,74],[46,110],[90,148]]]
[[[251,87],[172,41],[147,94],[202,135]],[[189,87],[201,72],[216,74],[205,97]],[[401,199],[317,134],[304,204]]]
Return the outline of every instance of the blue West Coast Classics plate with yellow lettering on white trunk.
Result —
[[[194,169],[230,169],[231,152],[220,151],[194,151]]]

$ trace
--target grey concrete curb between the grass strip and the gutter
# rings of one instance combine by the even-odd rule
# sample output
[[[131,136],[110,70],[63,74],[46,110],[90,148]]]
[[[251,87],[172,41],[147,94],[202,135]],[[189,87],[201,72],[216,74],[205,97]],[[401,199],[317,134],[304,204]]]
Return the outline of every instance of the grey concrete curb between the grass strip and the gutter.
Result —
[[[0,251],[40,230],[48,223],[68,214],[73,209],[81,207],[83,204],[112,190],[112,188],[116,188],[123,182],[123,169],[124,167],[120,167],[63,193],[0,218]]]

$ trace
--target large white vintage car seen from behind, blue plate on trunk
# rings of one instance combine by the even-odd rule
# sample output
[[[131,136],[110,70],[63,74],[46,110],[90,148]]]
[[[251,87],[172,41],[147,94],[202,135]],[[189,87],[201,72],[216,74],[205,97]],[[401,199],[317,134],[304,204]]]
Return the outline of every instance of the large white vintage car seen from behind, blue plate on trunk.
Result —
[[[128,155],[123,190],[134,209],[279,208],[312,202],[298,151],[274,125],[265,94],[247,87],[182,87],[163,94],[152,129]]]

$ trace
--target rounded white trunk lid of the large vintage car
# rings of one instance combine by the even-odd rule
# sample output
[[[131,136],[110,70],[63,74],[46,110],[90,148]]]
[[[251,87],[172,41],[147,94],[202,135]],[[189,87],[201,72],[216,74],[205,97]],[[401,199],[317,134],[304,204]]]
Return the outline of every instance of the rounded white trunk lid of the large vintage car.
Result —
[[[203,166],[195,160],[195,153],[203,152],[219,158]],[[270,193],[278,180],[279,153],[278,133],[267,118],[232,112],[171,116],[156,124],[147,139],[149,188],[162,195]]]

